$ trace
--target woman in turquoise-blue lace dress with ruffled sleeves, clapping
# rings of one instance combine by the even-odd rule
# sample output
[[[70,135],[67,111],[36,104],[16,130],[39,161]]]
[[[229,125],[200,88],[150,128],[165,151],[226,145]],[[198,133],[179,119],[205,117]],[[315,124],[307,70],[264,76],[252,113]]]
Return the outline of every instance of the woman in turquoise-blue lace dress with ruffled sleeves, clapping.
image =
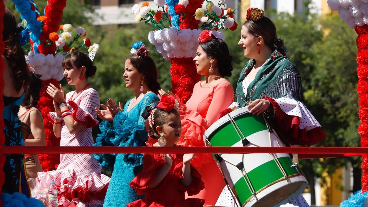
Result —
[[[99,117],[104,119],[99,127],[101,134],[96,138],[94,146],[145,146],[148,132],[141,114],[146,106],[158,101],[156,93],[160,89],[157,81],[155,63],[148,56],[148,50],[141,46],[138,51],[132,50],[125,60],[125,87],[134,92],[134,98],[125,103],[124,108],[117,106],[111,99],[108,106],[101,104],[105,110],[96,109]],[[95,154],[93,155],[104,168],[112,168],[109,188],[106,192],[104,206],[125,206],[142,199],[129,186],[130,181],[142,171],[143,154]]]

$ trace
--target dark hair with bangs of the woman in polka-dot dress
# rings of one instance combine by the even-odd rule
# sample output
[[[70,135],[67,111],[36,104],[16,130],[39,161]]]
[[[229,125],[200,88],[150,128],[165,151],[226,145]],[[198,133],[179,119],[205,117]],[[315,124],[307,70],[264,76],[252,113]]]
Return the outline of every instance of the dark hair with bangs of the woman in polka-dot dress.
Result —
[[[63,68],[65,67],[86,67],[85,77],[89,78],[95,75],[97,67],[93,65],[92,60],[89,59],[88,55],[81,51],[75,51],[64,57]]]

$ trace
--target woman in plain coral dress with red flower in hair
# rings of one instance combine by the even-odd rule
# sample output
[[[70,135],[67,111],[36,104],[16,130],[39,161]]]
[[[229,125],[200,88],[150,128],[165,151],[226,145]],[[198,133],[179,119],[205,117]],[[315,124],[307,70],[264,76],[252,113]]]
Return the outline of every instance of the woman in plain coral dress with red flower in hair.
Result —
[[[202,137],[206,129],[219,119],[219,113],[234,100],[233,87],[224,78],[231,76],[231,60],[226,43],[211,31],[202,31],[194,62],[197,73],[204,75],[206,80],[195,84],[191,98],[185,105],[181,104],[179,113],[183,133],[177,144],[205,146]],[[160,94],[166,93],[161,90]],[[197,154],[191,163],[205,182],[205,189],[193,197],[205,199],[205,204],[214,205],[225,186],[219,167],[211,154]]]

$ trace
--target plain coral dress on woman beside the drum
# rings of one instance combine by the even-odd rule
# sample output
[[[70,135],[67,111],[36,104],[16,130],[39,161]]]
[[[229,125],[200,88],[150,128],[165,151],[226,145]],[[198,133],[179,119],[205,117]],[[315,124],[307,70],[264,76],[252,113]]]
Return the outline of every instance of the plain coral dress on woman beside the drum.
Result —
[[[233,101],[234,90],[228,81],[212,87],[202,87],[201,81],[195,84],[192,97],[179,110],[183,131],[177,144],[204,147],[202,137],[206,129],[219,119],[219,113]],[[191,163],[205,182],[205,189],[194,197],[205,199],[206,204],[214,205],[225,186],[220,169],[211,154],[196,154]]]

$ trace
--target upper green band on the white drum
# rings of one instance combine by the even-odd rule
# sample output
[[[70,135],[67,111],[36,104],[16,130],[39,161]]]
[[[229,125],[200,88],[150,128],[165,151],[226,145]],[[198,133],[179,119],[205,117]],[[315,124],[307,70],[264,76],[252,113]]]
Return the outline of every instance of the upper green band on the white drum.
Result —
[[[245,113],[234,118],[234,120],[245,137],[258,131],[267,129],[265,120],[263,120],[262,116],[254,116],[250,113]],[[213,131],[208,140],[213,146],[231,147],[240,141],[241,138],[239,137],[233,124],[228,121]]]

